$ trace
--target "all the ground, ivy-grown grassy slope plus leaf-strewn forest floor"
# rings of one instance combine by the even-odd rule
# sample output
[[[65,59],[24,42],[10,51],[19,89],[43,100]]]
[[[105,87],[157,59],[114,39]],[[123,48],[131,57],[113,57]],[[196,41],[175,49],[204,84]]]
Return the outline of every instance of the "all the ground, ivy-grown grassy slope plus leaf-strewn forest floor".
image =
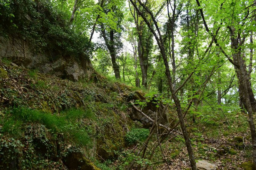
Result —
[[[134,167],[168,169],[159,147],[151,160],[135,156],[149,134],[129,117],[138,89],[99,74],[72,82],[6,60],[0,79],[0,169],[125,169],[134,158]],[[219,169],[251,168],[246,114],[205,111],[195,122],[192,115],[186,123],[197,160]],[[155,141],[156,135],[148,148]],[[189,169],[182,136],[171,134],[162,148],[170,169]]]

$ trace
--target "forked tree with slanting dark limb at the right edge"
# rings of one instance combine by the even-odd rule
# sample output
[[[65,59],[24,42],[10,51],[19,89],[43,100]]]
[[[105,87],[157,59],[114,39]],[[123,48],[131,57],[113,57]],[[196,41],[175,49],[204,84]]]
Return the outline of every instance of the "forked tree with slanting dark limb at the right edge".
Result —
[[[256,100],[254,98],[250,80],[248,78],[248,71],[246,70],[246,65],[244,60],[245,55],[243,55],[244,53],[242,48],[244,46],[246,37],[251,31],[250,29],[252,29],[252,26],[255,25],[255,22],[252,22],[252,18],[253,19],[255,18],[254,12],[252,13],[249,12],[250,11],[249,8],[253,7],[253,5],[251,4],[253,4],[254,1],[249,1],[249,2],[247,1],[246,5],[244,4],[242,5],[239,3],[236,4],[232,2],[230,4],[231,8],[230,6],[227,6],[227,4],[225,4],[224,2],[220,4],[220,10],[223,9],[222,6],[224,5],[225,6],[224,9],[227,11],[227,13],[230,12],[231,10],[234,11],[233,13],[231,13],[232,19],[234,18],[234,15],[236,15],[236,12],[244,13],[241,17],[235,17],[234,20],[231,20],[229,23],[224,23],[224,24],[227,24],[226,27],[228,28],[229,34],[230,34],[231,55],[233,60],[228,56],[228,54],[222,48],[221,43],[218,42],[218,39],[216,38],[216,35],[214,35],[209,30],[209,27],[206,24],[206,20],[204,18],[203,9],[201,8],[201,5],[198,0],[196,0],[196,3],[199,7],[206,31],[210,33],[212,37],[214,37],[214,43],[216,44],[216,46],[220,48],[221,52],[228,58],[230,63],[234,65],[236,76],[238,79],[239,95],[241,97],[242,103],[245,106],[246,111],[248,112],[248,117],[249,117],[248,122],[251,130],[251,137],[252,137],[253,169],[256,169],[256,131],[255,131],[255,126],[253,121],[253,113],[255,113],[256,111]],[[250,14],[252,14],[252,16],[250,16]],[[251,24],[249,24],[250,22]],[[220,26],[221,25],[222,25],[222,22]],[[247,28],[249,29],[249,33],[247,33],[248,29],[247,30],[244,29],[243,26],[247,26]]]

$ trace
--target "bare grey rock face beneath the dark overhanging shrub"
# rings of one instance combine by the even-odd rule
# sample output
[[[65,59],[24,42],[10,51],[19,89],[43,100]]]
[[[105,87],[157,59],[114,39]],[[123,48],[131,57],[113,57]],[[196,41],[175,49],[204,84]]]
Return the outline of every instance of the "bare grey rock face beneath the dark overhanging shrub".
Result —
[[[90,79],[95,72],[89,60],[81,61],[72,56],[60,57],[58,52],[53,51],[38,54],[35,48],[29,46],[26,41],[0,36],[0,57],[6,57],[13,62],[12,65],[38,69],[42,73],[74,81],[81,78]]]

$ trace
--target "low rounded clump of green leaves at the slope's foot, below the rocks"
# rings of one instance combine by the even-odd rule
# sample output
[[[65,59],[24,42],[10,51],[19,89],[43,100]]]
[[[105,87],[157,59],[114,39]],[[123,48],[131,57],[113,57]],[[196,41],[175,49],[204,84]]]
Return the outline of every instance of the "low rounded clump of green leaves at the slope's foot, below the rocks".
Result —
[[[136,144],[139,141],[144,141],[149,135],[149,129],[136,128],[127,132],[125,141],[128,145]]]

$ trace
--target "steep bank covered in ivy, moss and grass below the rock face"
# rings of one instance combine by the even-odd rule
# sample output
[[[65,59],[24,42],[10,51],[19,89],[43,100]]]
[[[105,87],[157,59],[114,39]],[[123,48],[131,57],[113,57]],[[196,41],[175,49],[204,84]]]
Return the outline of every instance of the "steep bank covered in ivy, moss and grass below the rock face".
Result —
[[[127,101],[140,93],[131,87],[100,75],[72,82],[6,61],[0,79],[0,169],[97,169],[88,159],[113,159],[125,146]]]

